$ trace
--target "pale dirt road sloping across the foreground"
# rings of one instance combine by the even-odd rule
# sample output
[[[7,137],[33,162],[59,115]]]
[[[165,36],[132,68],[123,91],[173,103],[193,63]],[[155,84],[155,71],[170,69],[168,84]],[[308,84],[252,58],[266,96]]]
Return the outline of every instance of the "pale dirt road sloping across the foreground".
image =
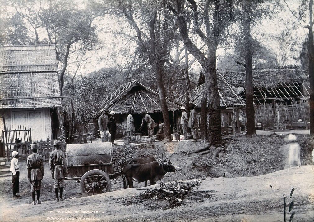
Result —
[[[295,191],[290,199],[292,188]],[[180,204],[166,210],[153,207],[160,206],[157,203],[160,200],[140,199],[141,192],[143,188],[129,188],[57,203],[45,201],[35,206],[11,207],[2,203],[0,220],[283,221],[285,196],[288,204],[295,200],[293,221],[314,221],[313,166],[288,168],[257,177],[207,178]],[[287,221],[290,214],[287,208]]]

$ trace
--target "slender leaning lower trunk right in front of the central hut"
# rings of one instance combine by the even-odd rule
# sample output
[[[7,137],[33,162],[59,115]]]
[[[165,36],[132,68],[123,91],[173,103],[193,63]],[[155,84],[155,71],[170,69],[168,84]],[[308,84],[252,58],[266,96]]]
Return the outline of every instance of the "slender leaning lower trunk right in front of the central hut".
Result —
[[[166,96],[165,96],[165,88],[162,81],[162,68],[163,68],[163,65],[161,64],[161,62],[156,61],[155,69],[157,73],[157,88],[159,92],[162,117],[165,123],[164,134],[165,134],[165,139],[168,139],[169,137],[171,137],[171,129],[170,129],[169,112],[168,112]]]

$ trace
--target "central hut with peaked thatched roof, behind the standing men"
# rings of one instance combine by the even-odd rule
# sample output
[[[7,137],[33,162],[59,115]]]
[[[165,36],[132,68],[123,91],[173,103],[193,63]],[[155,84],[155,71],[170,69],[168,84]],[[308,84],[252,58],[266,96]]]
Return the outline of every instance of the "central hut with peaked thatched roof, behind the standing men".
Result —
[[[177,127],[177,115],[180,104],[166,98],[169,111],[171,130]],[[135,129],[138,129],[142,123],[141,112],[148,113],[156,123],[163,122],[161,112],[159,93],[139,83],[137,80],[127,82],[114,91],[110,96],[101,102],[102,108],[107,108],[109,112],[115,111],[116,117],[116,138],[121,138],[127,134],[127,115],[128,110],[133,109]],[[179,114],[181,115],[181,113]],[[144,124],[147,127],[147,124]],[[147,133],[147,129],[143,130]],[[156,132],[155,132],[156,133]]]

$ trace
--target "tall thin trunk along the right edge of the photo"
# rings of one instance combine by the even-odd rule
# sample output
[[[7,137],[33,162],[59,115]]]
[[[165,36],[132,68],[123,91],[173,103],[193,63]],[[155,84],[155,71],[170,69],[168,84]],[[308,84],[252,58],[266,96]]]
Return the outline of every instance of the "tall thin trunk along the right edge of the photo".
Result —
[[[313,46],[313,1],[310,1],[309,29],[309,77],[310,77],[310,134],[314,134],[314,46]]]

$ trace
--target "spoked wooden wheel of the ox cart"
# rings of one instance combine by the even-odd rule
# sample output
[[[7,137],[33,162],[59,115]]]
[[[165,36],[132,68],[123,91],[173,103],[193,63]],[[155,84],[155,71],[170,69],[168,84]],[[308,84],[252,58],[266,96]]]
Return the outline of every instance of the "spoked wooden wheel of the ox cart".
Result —
[[[111,188],[108,174],[98,169],[90,170],[85,173],[79,185],[84,196],[109,192]]]

